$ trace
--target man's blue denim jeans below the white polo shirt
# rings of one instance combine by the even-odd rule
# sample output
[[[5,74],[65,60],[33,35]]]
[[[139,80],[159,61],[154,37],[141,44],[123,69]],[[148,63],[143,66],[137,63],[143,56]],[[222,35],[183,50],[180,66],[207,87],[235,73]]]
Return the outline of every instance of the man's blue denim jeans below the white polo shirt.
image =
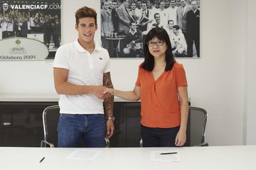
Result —
[[[58,147],[78,147],[82,139],[84,147],[105,147],[104,114],[60,114],[58,123]]]

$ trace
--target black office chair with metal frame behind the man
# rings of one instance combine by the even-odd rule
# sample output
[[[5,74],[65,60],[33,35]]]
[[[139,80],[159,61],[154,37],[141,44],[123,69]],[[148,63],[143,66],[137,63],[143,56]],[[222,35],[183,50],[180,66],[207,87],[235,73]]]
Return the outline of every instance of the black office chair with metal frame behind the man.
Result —
[[[58,121],[60,117],[60,107],[49,106],[43,111],[43,124],[45,139],[41,140],[41,147],[56,147],[58,146]],[[106,147],[110,146],[109,139],[106,139]],[[82,147],[82,143],[79,144]]]

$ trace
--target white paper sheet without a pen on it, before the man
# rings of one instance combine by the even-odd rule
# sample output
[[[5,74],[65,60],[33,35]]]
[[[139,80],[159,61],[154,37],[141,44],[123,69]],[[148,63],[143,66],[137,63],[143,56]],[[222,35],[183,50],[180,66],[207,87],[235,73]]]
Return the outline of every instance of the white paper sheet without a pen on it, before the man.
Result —
[[[66,159],[76,159],[76,160],[95,160],[100,154],[102,150],[85,150],[85,149],[77,149],[74,150]]]

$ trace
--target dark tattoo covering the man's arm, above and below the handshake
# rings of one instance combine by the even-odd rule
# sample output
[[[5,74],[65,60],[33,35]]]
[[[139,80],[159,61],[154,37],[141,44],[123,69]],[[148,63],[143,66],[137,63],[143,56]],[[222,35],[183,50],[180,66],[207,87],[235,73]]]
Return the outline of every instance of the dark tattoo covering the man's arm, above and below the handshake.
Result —
[[[114,88],[111,82],[110,72],[103,73],[103,86],[107,88]],[[114,96],[104,99],[104,103],[106,108],[106,115],[108,117],[113,117]]]

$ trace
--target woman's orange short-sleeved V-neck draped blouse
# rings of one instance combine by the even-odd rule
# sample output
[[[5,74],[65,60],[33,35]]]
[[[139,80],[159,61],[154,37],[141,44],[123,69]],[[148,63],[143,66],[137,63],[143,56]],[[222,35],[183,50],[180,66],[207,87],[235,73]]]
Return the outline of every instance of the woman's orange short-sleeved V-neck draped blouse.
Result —
[[[180,125],[178,87],[187,86],[186,73],[177,62],[155,81],[151,71],[138,70],[135,83],[141,87],[141,124],[145,127],[169,128]]]

